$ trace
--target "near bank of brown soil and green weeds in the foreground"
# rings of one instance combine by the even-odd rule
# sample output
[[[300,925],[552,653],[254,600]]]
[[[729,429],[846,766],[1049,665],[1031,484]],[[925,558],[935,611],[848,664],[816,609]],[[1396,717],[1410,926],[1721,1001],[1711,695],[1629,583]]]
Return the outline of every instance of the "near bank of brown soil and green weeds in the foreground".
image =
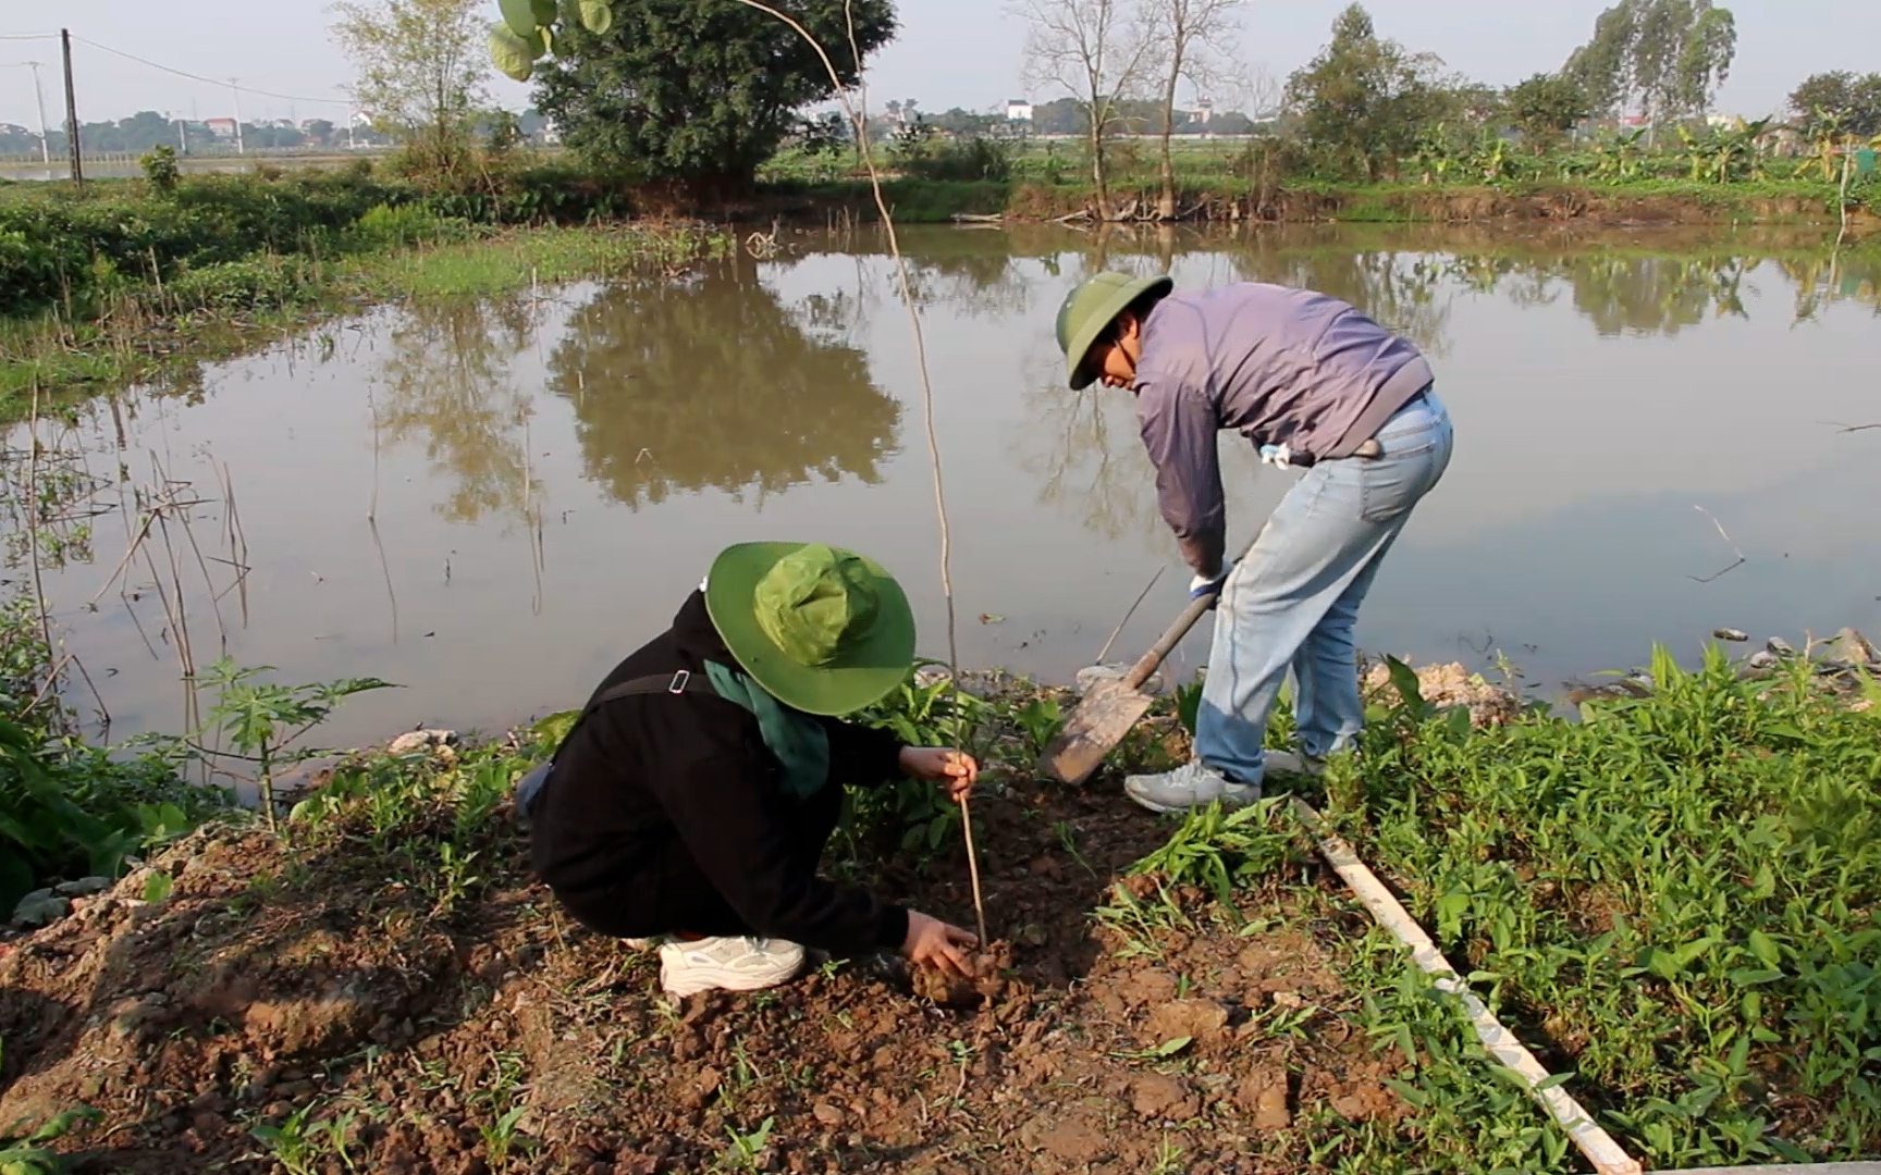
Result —
[[[1394,681],[1311,799],[1635,1156],[1881,1152],[1875,684],[1661,656],[1578,722],[1477,726]],[[662,1004],[656,961],[561,917],[504,820],[561,716],[350,760],[278,837],[203,829],[15,944],[0,1120],[96,1107],[55,1147],[113,1171],[1582,1169],[1283,803],[1123,801],[1121,773],[1185,756],[1187,692],[1059,788],[1029,763],[1068,699],[976,690],[1006,959],[984,1004],[865,961]],[[956,729],[937,686],[869,720]],[[971,921],[931,790],[863,795],[828,867]]]

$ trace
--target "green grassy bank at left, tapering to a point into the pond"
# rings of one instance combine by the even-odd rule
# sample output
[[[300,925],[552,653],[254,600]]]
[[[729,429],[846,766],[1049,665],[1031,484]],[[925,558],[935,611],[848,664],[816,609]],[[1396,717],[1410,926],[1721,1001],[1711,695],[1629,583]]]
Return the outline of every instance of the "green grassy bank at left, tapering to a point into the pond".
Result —
[[[357,177],[186,180],[156,216],[132,211],[149,203],[141,186],[92,184],[71,207],[0,197],[0,278],[13,282],[0,414],[24,415],[34,387],[56,399],[158,380],[372,303],[677,271],[734,244],[679,222],[483,224],[436,211],[459,197],[425,201]]]

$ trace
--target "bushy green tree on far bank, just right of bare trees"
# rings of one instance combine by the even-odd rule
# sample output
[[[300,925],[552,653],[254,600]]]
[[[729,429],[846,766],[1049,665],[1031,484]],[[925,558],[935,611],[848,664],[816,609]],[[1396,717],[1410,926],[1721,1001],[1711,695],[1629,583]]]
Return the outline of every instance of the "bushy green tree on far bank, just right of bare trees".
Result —
[[[1326,169],[1381,179],[1398,171],[1426,126],[1456,109],[1456,92],[1437,81],[1439,64],[1379,38],[1354,4],[1334,21],[1319,56],[1287,81],[1287,107]]]

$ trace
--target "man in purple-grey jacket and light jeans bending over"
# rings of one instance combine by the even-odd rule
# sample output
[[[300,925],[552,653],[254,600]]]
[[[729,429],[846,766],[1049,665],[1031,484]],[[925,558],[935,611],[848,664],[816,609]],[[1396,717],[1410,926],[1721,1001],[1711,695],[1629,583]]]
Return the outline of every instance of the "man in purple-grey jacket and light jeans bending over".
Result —
[[[1219,594],[1196,758],[1125,780],[1155,812],[1260,797],[1266,771],[1317,773],[1364,724],[1352,626],[1413,508],[1450,464],[1450,417],[1416,346],[1311,290],[1241,282],[1176,293],[1168,276],[1100,273],[1065,299],[1072,389],[1136,395],[1162,517]],[[1304,468],[1240,564],[1225,562],[1217,432]],[[1296,752],[1264,750],[1292,669]]]

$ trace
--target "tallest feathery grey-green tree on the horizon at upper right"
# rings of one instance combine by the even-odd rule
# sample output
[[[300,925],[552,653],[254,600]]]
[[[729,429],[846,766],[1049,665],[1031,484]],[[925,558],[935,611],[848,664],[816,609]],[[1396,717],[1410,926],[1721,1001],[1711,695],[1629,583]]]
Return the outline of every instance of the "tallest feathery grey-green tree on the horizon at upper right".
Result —
[[[1736,49],[1736,19],[1712,0],[1620,0],[1563,73],[1599,115],[1638,109],[1648,122],[1682,118],[1712,105]]]

